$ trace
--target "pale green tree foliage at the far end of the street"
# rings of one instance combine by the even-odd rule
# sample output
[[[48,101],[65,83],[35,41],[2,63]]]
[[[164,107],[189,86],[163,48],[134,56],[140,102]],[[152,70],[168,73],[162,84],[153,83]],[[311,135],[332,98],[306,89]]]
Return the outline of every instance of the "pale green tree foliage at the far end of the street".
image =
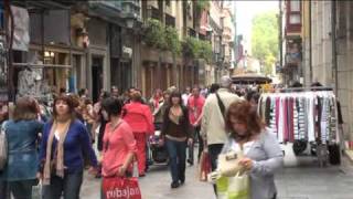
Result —
[[[271,74],[278,57],[278,22],[276,11],[264,12],[253,19],[253,56],[264,64],[265,74]]]

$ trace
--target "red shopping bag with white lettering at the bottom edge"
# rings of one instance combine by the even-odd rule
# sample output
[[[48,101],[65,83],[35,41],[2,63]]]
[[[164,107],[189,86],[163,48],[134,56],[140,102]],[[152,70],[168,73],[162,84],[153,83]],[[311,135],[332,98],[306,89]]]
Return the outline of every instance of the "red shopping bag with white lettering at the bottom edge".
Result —
[[[133,177],[103,178],[103,195],[105,199],[141,199],[138,179]]]

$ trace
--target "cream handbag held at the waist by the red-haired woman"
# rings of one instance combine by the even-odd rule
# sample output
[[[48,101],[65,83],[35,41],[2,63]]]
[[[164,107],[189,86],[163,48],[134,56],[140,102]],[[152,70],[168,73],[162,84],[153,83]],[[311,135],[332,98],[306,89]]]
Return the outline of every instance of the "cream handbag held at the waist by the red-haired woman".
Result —
[[[243,150],[231,150],[225,154],[220,154],[217,170],[222,176],[233,177],[243,169],[243,166],[238,164],[239,159],[244,157]]]

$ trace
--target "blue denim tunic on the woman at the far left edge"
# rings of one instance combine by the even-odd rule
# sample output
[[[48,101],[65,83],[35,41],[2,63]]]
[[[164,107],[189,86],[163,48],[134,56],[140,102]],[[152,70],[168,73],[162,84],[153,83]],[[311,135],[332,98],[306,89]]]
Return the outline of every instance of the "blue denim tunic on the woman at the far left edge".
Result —
[[[0,178],[7,181],[35,179],[38,159],[36,140],[43,124],[33,121],[9,121],[6,125],[8,164]]]

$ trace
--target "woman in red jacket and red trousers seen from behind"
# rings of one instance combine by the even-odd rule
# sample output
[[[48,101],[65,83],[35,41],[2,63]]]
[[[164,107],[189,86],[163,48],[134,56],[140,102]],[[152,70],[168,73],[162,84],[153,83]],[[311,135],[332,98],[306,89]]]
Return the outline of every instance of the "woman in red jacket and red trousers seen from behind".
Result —
[[[154,132],[152,113],[148,105],[141,103],[139,91],[132,93],[131,102],[122,109],[122,118],[131,126],[137,140],[137,160],[139,175],[142,177],[146,169],[146,138]]]

